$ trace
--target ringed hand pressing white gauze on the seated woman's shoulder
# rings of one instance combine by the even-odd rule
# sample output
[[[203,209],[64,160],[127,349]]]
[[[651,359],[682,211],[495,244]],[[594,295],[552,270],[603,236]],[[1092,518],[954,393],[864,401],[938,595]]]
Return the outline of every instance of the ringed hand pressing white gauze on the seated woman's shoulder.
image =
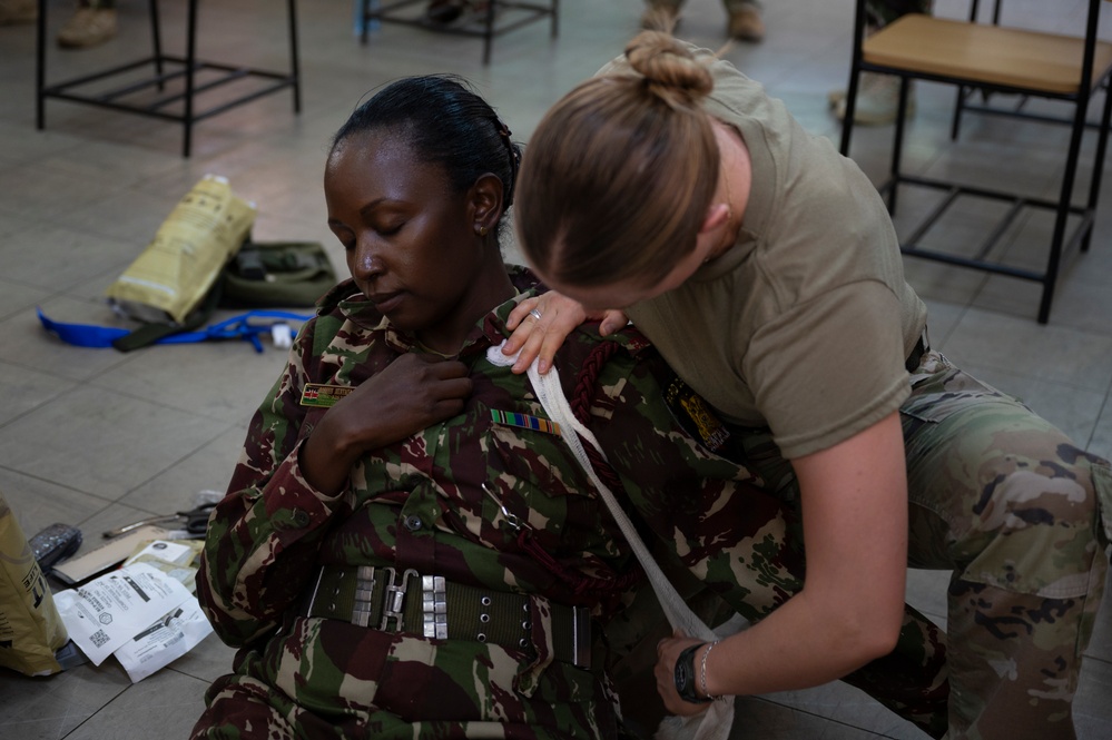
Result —
[[[540,318],[533,310],[540,314]],[[602,319],[599,326],[602,336],[617,332],[629,322],[626,314],[617,309],[589,315],[578,302],[555,290],[525,298],[514,306],[506,318],[506,328],[513,334],[505,341],[502,353],[513,355],[520,349],[512,368],[519,374],[528,371],[533,359],[540,357],[537,367],[544,375],[552,367],[552,358],[563,341],[588,318]]]

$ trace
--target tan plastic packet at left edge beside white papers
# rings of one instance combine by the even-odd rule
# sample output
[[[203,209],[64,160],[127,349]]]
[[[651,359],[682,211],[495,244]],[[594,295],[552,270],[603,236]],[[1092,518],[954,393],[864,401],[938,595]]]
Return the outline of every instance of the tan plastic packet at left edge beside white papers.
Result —
[[[16,514],[0,494],[0,665],[28,675],[62,670],[69,635]]]

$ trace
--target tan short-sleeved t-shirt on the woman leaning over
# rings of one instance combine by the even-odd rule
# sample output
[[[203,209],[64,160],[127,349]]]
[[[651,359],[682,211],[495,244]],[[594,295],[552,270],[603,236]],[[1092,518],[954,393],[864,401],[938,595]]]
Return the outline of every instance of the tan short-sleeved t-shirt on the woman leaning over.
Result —
[[[904,280],[892,221],[860,169],[732,65],[711,69],[705,108],[738,130],[752,161],[741,233],[628,314],[692,388],[729,421],[769,427],[790,460],[899,407],[926,306]]]

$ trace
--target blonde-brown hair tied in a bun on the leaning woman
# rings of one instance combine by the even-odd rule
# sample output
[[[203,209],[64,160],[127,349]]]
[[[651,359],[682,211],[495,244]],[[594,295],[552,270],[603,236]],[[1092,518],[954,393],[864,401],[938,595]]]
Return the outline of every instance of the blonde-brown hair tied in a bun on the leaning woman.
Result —
[[[671,36],[626,48],[631,71],[594,77],[545,114],[525,148],[514,217],[553,282],[663,278],[696,244],[719,151],[701,101],[710,70]]]

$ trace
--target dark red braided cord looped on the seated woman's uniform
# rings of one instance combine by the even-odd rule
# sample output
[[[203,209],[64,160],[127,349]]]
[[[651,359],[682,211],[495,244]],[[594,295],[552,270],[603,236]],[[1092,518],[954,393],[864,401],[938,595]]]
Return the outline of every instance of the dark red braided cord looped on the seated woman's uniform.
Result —
[[[580,423],[587,425],[591,415],[591,399],[594,397],[594,386],[599,379],[599,374],[602,372],[602,367],[607,364],[607,361],[616,352],[621,349],[621,345],[617,342],[601,342],[594,346],[591,354],[588,355],[587,361],[583,363],[582,368],[579,371],[579,377],[575,378],[575,391],[570,399],[571,411],[575,415],[575,418]],[[565,433],[574,433],[573,430],[567,430]],[[587,451],[587,456],[591,461],[591,466],[594,468],[596,474],[599,476],[607,487],[610,489],[616,496],[623,494],[626,489],[621,483],[621,478],[610,466],[610,464],[602,457],[602,454],[596,450],[594,445],[590,443],[583,444],[583,448]],[[630,585],[642,580],[643,572],[639,565],[632,568],[629,572],[614,576],[590,576],[583,575],[580,572],[572,571],[564,568],[559,561],[552,558],[551,553],[541,547],[539,543],[529,536],[529,530],[521,530],[518,534],[518,545],[522,549],[529,551],[538,561],[543,563],[550,572],[558,575],[562,581],[572,585],[577,594],[582,594],[584,592],[596,592],[602,594],[614,594],[619,591],[624,591]]]

